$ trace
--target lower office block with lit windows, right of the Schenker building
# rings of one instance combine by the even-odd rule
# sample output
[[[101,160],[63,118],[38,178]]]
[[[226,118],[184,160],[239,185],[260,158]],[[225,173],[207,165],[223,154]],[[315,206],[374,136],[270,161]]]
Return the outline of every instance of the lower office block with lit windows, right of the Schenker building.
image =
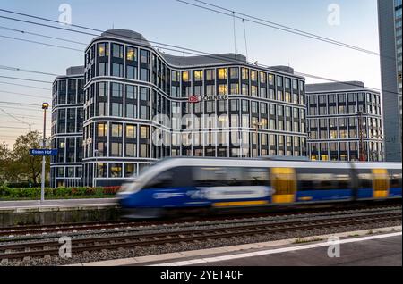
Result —
[[[306,97],[312,160],[383,161],[379,93],[352,81],[307,84]]]

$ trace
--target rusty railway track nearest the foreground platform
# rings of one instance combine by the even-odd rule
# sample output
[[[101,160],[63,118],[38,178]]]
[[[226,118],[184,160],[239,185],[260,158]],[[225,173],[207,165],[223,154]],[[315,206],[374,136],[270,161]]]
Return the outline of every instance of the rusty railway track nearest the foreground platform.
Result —
[[[330,216],[322,220],[297,221],[264,221],[260,223],[234,224],[230,227],[200,228],[172,230],[164,232],[138,232],[122,236],[103,236],[95,238],[73,238],[72,253],[85,253],[119,248],[134,248],[137,246],[167,245],[195,242],[217,238],[236,238],[240,236],[274,234],[279,232],[295,232],[313,229],[327,229],[362,225],[369,223],[384,223],[401,221],[401,211],[390,213],[348,214]],[[37,242],[20,242],[0,245],[0,260],[26,259],[27,257],[47,257],[59,254],[59,242],[46,240]]]

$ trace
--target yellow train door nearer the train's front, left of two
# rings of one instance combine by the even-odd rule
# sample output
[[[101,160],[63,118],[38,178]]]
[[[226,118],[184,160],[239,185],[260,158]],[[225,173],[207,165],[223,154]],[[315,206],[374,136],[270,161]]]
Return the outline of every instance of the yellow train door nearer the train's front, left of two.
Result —
[[[296,201],[296,170],[291,168],[272,168],[271,186],[274,190],[271,196],[273,204],[287,204]]]

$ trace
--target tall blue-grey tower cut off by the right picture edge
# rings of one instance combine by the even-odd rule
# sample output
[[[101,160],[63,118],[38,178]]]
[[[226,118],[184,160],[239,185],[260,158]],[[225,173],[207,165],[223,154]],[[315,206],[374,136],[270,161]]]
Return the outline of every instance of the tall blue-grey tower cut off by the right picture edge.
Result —
[[[378,0],[386,161],[402,157],[402,0]]]

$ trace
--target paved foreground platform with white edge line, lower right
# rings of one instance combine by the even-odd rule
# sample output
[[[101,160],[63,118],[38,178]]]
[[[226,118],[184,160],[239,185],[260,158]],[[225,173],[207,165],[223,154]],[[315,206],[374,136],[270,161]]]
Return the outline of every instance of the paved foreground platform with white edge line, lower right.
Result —
[[[401,266],[402,227],[359,230],[165,255],[150,255],[73,266]],[[339,256],[329,257],[330,238]],[[318,241],[318,239],[321,239]],[[332,252],[335,252],[331,250]]]

